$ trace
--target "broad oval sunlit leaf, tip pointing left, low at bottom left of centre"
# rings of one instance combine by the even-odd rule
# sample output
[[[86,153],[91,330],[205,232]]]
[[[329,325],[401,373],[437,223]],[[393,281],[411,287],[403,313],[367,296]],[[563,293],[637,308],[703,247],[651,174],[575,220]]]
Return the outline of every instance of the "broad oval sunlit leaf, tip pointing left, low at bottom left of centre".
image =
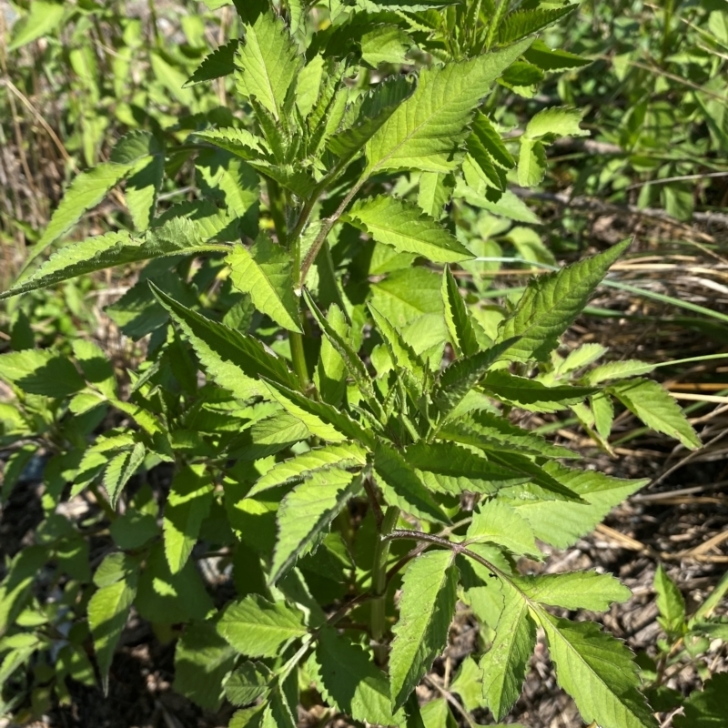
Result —
[[[217,632],[248,657],[278,657],[288,642],[308,634],[298,610],[268,602],[259,594],[228,604]]]

